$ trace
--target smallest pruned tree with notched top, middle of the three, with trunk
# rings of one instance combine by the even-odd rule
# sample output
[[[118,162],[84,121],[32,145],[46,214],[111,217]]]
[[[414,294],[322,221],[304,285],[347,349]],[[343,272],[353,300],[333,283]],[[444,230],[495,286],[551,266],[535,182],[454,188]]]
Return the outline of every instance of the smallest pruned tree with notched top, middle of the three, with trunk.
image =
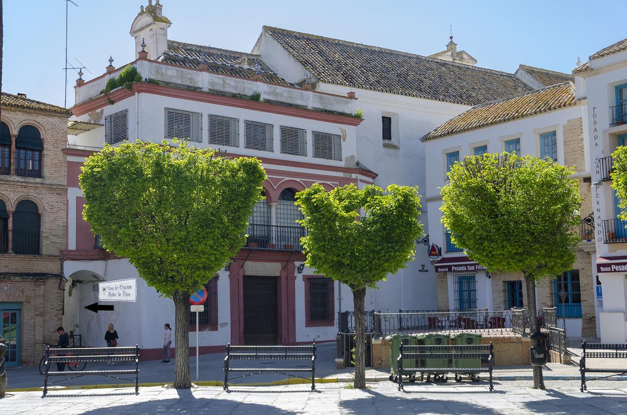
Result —
[[[298,192],[305,215],[305,265],[340,281],[353,293],[355,311],[354,387],[366,387],[366,288],[413,259],[423,227],[417,187],[392,184],[357,189],[353,184],[325,191],[320,184]]]

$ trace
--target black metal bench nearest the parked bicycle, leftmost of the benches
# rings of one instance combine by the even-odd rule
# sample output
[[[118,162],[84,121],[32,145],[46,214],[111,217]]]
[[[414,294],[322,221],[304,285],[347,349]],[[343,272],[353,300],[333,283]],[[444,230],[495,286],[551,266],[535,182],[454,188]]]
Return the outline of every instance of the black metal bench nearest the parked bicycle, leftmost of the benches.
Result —
[[[80,372],[59,372],[50,370],[51,364],[57,363],[73,363],[73,362],[134,362],[134,369],[115,369],[115,370],[81,370]],[[45,372],[43,383],[43,397],[48,394],[48,386],[58,384],[60,382],[69,381],[82,376],[105,376],[121,381],[133,382],[132,379],[124,379],[118,377],[120,375],[135,375],[135,394],[139,394],[139,345],[132,347],[72,347],[68,349],[52,349],[50,346],[46,348]],[[67,379],[61,379],[56,382],[48,382],[49,376],[68,376]]]

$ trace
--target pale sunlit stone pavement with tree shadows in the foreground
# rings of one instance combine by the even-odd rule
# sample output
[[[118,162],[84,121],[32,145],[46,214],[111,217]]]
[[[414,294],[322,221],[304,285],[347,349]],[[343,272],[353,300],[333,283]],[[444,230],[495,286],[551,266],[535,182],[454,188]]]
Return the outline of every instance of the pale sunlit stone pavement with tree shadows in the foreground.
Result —
[[[579,392],[577,381],[556,381],[551,390],[529,389],[529,382],[500,382],[494,392],[481,384],[413,384],[404,392],[394,384],[369,384],[354,390],[347,384],[320,384],[315,392],[305,385],[198,387],[177,391],[144,387],[131,389],[58,391],[41,399],[40,392],[16,392],[0,400],[0,412],[11,415],[153,415],[153,414],[482,414],[482,415],[601,415],[627,414],[627,383],[604,381]]]

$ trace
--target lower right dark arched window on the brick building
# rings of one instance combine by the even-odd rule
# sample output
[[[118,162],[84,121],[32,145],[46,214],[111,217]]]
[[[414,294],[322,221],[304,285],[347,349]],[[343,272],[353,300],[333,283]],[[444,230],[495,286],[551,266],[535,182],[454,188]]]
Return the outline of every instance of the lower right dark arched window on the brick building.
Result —
[[[39,255],[40,226],[41,218],[37,205],[28,200],[19,202],[13,213],[13,252]]]

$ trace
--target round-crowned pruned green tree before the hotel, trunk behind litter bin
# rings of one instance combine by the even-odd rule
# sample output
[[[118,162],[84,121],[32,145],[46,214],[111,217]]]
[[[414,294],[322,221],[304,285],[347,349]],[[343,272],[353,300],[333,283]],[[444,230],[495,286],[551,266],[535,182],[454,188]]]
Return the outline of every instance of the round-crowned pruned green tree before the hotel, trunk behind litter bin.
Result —
[[[466,157],[441,189],[442,223],[453,243],[488,272],[520,272],[532,332],[535,282],[570,270],[579,242],[579,185],[569,167],[514,153]],[[534,367],[534,388],[544,389]]]

